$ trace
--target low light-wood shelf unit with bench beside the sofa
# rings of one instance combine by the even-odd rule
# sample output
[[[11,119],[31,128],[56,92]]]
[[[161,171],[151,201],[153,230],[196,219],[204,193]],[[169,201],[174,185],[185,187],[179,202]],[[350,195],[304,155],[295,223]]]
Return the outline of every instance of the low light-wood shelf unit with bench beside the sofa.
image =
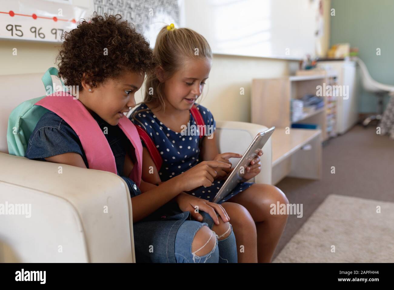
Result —
[[[327,97],[324,106],[305,113],[296,122],[314,123],[320,129],[291,128],[292,99],[305,94],[316,95],[317,86],[327,84],[327,75],[302,75],[252,81],[252,123],[275,126],[272,140],[272,182],[286,176],[307,179],[322,178],[322,142],[327,140]],[[330,109],[333,103],[329,103]]]

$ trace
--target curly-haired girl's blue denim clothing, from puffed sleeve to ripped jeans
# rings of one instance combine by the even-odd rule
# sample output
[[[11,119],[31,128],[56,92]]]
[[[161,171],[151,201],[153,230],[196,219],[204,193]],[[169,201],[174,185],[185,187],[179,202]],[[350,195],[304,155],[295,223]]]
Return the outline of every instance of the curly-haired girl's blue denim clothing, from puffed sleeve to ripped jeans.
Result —
[[[108,128],[108,134],[104,135],[115,157],[117,174],[121,176],[125,155],[131,142],[119,126],[108,124],[95,113],[92,116],[103,132],[105,127]],[[69,152],[80,154],[85,166],[89,168],[78,135],[57,114],[52,111],[47,112],[32,132],[25,157],[45,161],[45,157]],[[126,181],[132,198],[141,194],[134,181],[126,176],[121,176],[121,178]],[[227,239],[219,241],[222,244],[221,249],[215,247],[212,253],[201,257],[191,255],[191,243],[197,230],[203,225],[210,228],[214,225],[208,214],[202,211],[200,213],[204,217],[202,222],[195,221],[189,211],[182,212],[176,202],[169,202],[141,221],[134,223],[136,262],[218,262],[215,260],[216,256],[217,259],[221,259],[219,262],[234,262],[233,233]]]

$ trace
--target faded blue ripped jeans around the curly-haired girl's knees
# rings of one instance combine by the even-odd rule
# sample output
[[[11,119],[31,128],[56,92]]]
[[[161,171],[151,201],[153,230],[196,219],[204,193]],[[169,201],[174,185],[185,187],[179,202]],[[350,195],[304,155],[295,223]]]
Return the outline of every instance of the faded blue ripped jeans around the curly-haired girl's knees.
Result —
[[[195,253],[200,249],[192,253],[191,244],[195,234],[204,225],[208,226],[212,230],[214,226],[214,221],[212,217],[204,212],[199,212],[203,216],[203,221],[184,221],[179,227],[176,238],[175,238],[175,258],[177,263],[237,263],[237,245],[235,243],[234,232],[232,231],[232,226],[230,224],[227,232],[224,232],[218,236],[214,231],[212,231],[211,237],[207,239],[204,247],[209,247],[208,241],[215,239],[215,245],[210,253],[197,256]],[[219,216],[219,219],[221,217]],[[221,236],[225,236],[230,231],[229,236],[224,239],[218,239]]]

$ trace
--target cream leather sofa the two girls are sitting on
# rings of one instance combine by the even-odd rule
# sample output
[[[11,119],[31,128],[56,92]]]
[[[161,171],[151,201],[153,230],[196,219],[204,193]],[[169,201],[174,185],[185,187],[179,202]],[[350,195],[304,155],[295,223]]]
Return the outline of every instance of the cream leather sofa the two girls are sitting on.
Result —
[[[132,199],[121,177],[8,154],[8,116],[22,101],[45,95],[41,76],[0,76],[0,207],[8,213],[0,214],[0,262],[135,262]],[[219,150],[243,153],[264,129],[217,121]],[[255,182],[271,183],[271,140],[263,151]],[[17,204],[31,211],[9,214]]]

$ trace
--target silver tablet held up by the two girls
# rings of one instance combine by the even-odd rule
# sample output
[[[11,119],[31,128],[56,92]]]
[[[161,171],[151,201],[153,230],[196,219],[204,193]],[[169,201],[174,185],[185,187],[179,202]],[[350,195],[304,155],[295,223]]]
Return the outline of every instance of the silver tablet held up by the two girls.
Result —
[[[234,167],[234,170],[232,170],[229,177],[227,178],[219,192],[216,194],[212,202],[217,203],[231,193],[231,191],[237,186],[237,184],[242,180],[243,176],[247,172],[246,167],[249,166],[250,162],[264,147],[264,144],[266,144],[274,130],[275,127],[271,127],[266,131],[257,134],[257,136],[249,145],[249,148],[247,148],[246,152],[242,155],[240,161],[238,161],[237,165]]]

